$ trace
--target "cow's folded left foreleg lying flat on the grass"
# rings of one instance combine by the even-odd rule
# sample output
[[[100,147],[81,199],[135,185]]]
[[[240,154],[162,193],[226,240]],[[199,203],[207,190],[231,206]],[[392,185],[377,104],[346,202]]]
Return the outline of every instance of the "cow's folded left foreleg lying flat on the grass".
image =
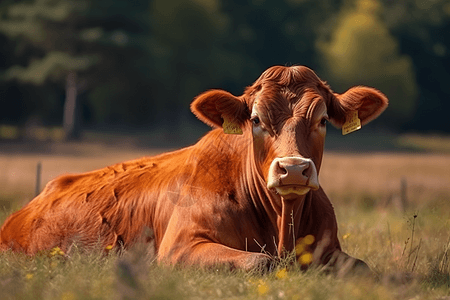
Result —
[[[237,250],[210,241],[197,241],[187,247],[171,247],[166,254],[160,251],[158,260],[203,267],[225,266],[245,271],[266,272],[272,269],[273,262],[267,254]]]

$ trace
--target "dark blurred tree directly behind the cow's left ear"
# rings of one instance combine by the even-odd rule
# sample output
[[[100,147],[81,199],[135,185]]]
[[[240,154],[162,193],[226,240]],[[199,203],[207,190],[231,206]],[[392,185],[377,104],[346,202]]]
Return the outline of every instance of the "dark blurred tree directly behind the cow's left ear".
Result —
[[[218,1],[154,0],[150,19],[153,76],[160,82],[153,93],[161,100],[165,127],[180,137],[192,99],[235,78],[242,67],[238,55],[223,48],[228,19]]]

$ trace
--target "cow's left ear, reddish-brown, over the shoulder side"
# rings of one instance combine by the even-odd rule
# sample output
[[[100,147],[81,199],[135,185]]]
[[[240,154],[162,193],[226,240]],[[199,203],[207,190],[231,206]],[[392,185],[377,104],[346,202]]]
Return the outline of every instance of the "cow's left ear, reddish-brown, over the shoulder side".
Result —
[[[242,128],[250,118],[246,103],[222,90],[211,90],[197,96],[191,103],[191,111],[211,127],[222,127],[226,119]]]

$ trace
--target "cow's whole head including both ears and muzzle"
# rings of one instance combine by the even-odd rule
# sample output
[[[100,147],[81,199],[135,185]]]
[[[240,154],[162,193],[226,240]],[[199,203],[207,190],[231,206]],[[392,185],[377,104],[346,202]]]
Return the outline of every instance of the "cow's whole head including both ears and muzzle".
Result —
[[[359,86],[336,94],[307,67],[275,66],[242,96],[208,91],[194,100],[191,110],[210,126],[221,127],[224,120],[239,126],[252,141],[254,161],[267,188],[295,199],[319,188],[326,123],[340,128],[346,116],[357,111],[364,125],[387,104],[373,88]]]

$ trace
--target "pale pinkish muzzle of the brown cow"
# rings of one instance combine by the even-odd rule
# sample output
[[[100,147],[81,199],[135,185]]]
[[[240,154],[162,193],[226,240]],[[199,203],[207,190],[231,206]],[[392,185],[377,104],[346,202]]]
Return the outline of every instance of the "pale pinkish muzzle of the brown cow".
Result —
[[[305,195],[319,189],[317,169],[309,158],[290,156],[275,158],[270,164],[267,188],[281,196]]]

